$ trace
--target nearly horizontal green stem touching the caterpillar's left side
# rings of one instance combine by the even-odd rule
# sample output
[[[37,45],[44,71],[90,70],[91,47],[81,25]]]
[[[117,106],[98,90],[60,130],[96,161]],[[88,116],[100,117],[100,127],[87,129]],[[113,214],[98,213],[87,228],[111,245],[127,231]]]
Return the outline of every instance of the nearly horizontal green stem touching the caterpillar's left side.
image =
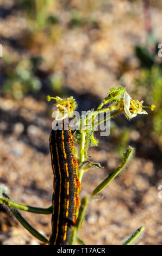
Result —
[[[0,203],[22,211],[33,212],[34,214],[52,214],[53,206],[49,208],[38,208],[29,205],[19,204],[7,198],[0,198]]]

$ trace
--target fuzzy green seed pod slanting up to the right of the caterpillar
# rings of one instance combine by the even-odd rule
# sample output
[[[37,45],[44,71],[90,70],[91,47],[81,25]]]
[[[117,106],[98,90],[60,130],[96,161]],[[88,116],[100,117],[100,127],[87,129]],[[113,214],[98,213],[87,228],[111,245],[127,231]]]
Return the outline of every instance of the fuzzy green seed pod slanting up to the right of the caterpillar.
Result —
[[[114,180],[114,178],[121,172],[121,170],[124,168],[124,166],[126,166],[126,164],[128,163],[130,157],[133,155],[133,151],[134,151],[134,148],[132,147],[129,147],[127,150],[126,150],[126,153],[124,153],[124,159],[121,163],[121,166],[118,167],[116,170],[114,170],[113,172],[111,172],[109,174],[109,176],[103,180],[101,182],[101,184],[99,184],[95,190],[92,192],[91,196],[95,196],[96,194],[98,194],[99,192],[101,192],[106,186],[108,186],[109,182],[111,180]]]

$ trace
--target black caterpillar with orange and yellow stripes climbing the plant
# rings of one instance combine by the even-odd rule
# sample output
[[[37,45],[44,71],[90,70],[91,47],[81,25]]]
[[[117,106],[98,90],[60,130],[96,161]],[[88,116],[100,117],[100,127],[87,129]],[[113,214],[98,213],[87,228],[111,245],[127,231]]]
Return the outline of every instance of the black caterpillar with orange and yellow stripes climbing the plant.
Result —
[[[52,130],[49,137],[54,174],[52,235],[49,245],[68,243],[80,205],[80,182],[77,175],[78,163],[74,156],[73,135],[68,124],[63,123],[62,129]]]

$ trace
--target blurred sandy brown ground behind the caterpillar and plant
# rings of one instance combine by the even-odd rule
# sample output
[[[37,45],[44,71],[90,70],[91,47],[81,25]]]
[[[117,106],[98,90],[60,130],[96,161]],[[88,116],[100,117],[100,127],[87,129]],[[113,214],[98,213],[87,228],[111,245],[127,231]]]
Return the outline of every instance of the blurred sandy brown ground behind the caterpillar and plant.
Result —
[[[127,168],[89,205],[80,236],[88,245],[120,245],[140,225],[140,245],[162,244],[162,43],[161,0],[1,0],[0,183],[17,202],[48,207],[53,173],[49,133],[53,102],[73,96],[79,111],[96,107],[111,87],[123,86],[144,105],[157,106],[131,121],[111,120],[111,133],[90,148],[104,169],[83,177],[80,198],[121,162]],[[42,234],[51,216],[22,212]],[[0,205],[1,245],[40,245]]]

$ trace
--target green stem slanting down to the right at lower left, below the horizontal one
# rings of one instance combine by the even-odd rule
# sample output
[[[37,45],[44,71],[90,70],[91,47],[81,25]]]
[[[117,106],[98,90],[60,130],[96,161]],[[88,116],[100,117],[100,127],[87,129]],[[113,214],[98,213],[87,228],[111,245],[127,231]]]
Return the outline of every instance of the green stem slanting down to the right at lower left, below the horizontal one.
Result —
[[[3,196],[10,199],[5,193],[3,193]],[[17,209],[12,208],[11,206],[8,206],[8,207],[13,213],[13,215],[16,217],[16,219],[23,225],[24,228],[26,228],[29,231],[30,234],[38,238],[40,241],[44,243],[48,243],[48,240],[46,239],[46,237],[41,235],[35,228],[33,228],[32,225],[30,225],[27,222],[27,220],[21,215],[21,213]]]

